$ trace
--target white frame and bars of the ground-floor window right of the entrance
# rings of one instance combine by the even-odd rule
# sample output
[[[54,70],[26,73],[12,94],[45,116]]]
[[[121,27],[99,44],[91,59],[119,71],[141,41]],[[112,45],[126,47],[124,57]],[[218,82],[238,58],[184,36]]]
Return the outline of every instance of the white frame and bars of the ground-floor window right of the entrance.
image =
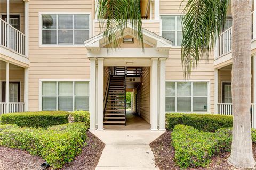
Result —
[[[193,97],[191,97],[191,111],[182,112],[182,113],[211,113],[211,81],[210,80],[165,80],[166,82],[175,82],[175,111],[165,111],[166,113],[180,113],[182,111],[177,111],[177,82],[191,82],[191,96],[193,96],[193,82],[207,82],[207,111],[206,112],[198,112],[193,111]],[[165,96],[165,97],[174,97],[174,96]],[[186,96],[189,97],[189,96]],[[202,96],[195,96],[202,97]],[[204,96],[205,97],[205,96]]]

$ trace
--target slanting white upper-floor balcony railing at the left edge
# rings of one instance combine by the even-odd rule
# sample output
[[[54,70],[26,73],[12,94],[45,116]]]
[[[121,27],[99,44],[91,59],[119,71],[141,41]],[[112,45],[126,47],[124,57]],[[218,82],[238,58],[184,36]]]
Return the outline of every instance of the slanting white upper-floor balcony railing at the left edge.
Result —
[[[0,45],[25,55],[25,34],[0,19]]]

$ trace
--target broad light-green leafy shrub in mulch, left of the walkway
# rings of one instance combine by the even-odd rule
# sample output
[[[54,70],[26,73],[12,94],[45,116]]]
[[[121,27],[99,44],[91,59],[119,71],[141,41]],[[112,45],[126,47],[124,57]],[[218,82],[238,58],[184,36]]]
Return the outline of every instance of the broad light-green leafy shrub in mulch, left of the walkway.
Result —
[[[84,123],[68,123],[48,129],[0,125],[0,145],[41,156],[52,168],[58,169],[81,152],[86,145],[86,130]]]

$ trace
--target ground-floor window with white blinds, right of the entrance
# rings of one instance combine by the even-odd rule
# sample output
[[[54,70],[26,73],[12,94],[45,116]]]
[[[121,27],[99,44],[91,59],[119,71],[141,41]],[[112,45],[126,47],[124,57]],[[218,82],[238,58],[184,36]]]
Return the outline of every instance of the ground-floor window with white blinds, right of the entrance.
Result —
[[[207,112],[207,82],[166,82],[166,112]]]

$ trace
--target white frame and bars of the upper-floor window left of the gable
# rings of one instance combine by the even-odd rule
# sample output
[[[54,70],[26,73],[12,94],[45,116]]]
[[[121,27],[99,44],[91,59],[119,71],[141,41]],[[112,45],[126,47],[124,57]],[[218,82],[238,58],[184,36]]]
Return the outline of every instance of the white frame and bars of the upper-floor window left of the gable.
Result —
[[[39,18],[39,28],[38,28],[38,33],[39,33],[39,47],[84,47],[84,44],[74,44],[74,30],[77,29],[73,29],[74,28],[74,22],[73,22],[73,28],[72,29],[65,29],[65,30],[73,30],[73,44],[58,44],[58,30],[61,29],[53,29],[53,30],[57,30],[56,32],[56,36],[57,36],[57,41],[56,44],[42,44],[42,15],[43,14],[54,14],[54,15],[58,15],[58,14],[89,14],[89,39],[92,37],[92,14],[91,12],[39,12],[38,13],[38,18]],[[74,16],[73,15],[73,16]],[[74,18],[73,18],[74,20]],[[58,24],[58,19],[56,20],[56,23]],[[56,24],[56,25],[57,25]],[[57,27],[57,26],[56,26]],[[51,29],[49,29],[51,30]]]

